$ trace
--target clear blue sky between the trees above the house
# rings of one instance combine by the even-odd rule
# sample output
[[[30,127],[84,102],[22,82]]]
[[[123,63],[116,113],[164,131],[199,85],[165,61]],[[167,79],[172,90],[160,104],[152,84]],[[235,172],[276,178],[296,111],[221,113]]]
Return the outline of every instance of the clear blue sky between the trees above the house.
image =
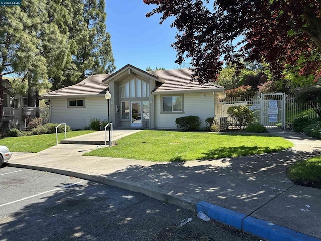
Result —
[[[106,0],[106,26],[111,35],[112,52],[116,70],[126,64],[142,70],[177,69],[175,42],[176,28],[172,21],[159,24],[161,15],[146,17],[155,5],[144,4],[142,0]]]

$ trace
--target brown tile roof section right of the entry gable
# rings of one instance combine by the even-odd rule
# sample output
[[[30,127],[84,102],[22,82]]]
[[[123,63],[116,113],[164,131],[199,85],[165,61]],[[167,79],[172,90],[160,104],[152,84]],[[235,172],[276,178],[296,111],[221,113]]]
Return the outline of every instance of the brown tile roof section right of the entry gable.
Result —
[[[193,92],[195,90],[215,91],[224,89],[224,87],[217,84],[209,83],[200,85],[198,81],[191,81],[191,76],[193,74],[192,69],[155,70],[148,72],[165,81],[165,83],[152,91],[154,93],[179,91]]]

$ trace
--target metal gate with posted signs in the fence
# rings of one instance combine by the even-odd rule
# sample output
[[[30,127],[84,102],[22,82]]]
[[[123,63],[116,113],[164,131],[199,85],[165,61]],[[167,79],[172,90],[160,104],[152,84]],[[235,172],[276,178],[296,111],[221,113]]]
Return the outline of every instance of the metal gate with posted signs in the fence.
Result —
[[[285,93],[261,94],[261,124],[285,128]]]

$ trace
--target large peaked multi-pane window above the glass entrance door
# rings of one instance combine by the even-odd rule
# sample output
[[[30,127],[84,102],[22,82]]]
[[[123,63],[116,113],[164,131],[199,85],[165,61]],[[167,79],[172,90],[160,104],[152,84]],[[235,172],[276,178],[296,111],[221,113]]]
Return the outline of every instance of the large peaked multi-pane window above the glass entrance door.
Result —
[[[132,79],[120,87],[121,98],[149,97],[149,84],[140,80]]]

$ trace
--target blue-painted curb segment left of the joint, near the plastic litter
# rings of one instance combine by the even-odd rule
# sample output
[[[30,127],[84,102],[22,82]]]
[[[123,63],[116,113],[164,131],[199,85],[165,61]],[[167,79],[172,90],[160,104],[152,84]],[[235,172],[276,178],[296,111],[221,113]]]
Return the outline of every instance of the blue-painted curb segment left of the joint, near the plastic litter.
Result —
[[[245,214],[204,201],[200,201],[196,204],[196,210],[197,212],[202,211],[208,217],[237,229],[242,229],[242,220],[246,217]]]

